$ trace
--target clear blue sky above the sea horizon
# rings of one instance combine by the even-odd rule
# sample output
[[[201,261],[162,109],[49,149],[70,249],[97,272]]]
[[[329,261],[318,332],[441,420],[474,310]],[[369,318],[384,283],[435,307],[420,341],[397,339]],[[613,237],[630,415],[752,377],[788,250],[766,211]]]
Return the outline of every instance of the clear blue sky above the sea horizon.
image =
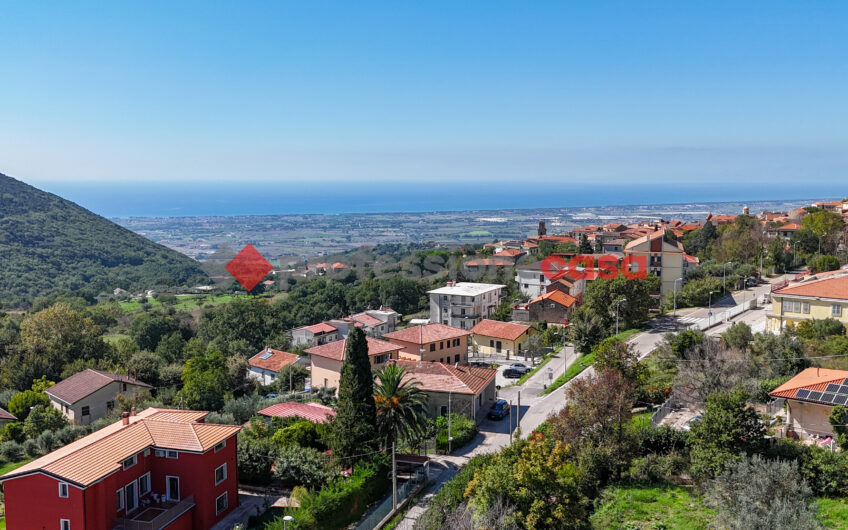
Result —
[[[847,15],[836,1],[5,3],[0,172],[824,189],[848,167]]]

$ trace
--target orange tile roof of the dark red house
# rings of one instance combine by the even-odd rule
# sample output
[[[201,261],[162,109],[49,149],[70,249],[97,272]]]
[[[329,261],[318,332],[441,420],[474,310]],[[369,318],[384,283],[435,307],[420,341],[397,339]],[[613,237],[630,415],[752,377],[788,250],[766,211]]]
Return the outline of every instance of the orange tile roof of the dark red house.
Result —
[[[147,409],[137,416],[131,416],[129,425],[117,421],[0,478],[8,480],[40,471],[87,487],[118,471],[124,460],[149,447],[206,452],[241,430],[241,427],[235,425],[163,419],[165,416],[162,413],[180,416],[181,412]],[[186,416],[190,417],[191,414]]]

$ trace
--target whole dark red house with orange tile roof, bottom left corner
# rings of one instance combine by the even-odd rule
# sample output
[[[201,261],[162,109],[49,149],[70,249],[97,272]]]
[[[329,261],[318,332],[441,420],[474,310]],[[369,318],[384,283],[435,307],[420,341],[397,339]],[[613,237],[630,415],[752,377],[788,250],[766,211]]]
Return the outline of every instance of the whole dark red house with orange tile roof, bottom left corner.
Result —
[[[238,506],[236,434],[149,408],[0,477],[8,528],[208,529]]]

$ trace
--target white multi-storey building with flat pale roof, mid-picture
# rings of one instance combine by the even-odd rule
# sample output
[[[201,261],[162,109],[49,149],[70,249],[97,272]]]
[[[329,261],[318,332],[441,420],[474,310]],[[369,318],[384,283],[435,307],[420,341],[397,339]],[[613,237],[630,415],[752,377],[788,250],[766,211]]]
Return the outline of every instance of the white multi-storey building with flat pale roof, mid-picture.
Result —
[[[448,282],[444,287],[427,292],[430,322],[471,329],[495,311],[505,291],[506,285]]]

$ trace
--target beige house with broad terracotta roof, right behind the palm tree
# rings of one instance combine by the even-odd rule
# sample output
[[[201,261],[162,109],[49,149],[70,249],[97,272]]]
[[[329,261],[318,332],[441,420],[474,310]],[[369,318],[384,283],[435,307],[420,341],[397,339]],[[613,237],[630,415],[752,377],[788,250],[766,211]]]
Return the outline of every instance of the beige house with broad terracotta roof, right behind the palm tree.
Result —
[[[463,414],[476,422],[485,418],[497,400],[497,370],[426,361],[394,361],[406,369],[404,380],[415,380],[427,393],[430,417]]]

